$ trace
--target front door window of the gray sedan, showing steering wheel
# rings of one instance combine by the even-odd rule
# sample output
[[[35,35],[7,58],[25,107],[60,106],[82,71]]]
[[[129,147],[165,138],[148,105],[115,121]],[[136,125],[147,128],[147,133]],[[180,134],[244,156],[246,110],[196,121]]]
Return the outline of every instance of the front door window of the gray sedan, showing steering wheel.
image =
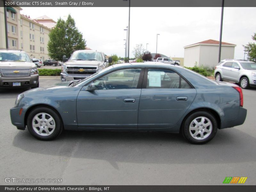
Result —
[[[141,68],[120,69],[95,80],[96,90],[136,89]]]

